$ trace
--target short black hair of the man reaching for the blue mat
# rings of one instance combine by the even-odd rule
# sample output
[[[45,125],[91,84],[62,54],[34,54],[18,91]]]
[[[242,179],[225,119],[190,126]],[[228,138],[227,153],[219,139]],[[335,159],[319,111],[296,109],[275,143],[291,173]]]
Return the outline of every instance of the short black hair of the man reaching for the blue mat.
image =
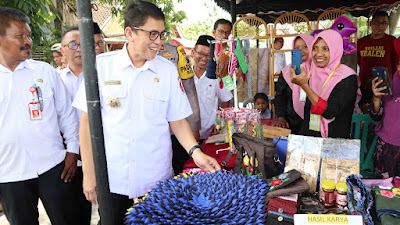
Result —
[[[125,27],[140,27],[143,26],[149,17],[160,19],[165,22],[164,13],[159,7],[153,3],[146,1],[134,1],[126,6],[124,20]]]

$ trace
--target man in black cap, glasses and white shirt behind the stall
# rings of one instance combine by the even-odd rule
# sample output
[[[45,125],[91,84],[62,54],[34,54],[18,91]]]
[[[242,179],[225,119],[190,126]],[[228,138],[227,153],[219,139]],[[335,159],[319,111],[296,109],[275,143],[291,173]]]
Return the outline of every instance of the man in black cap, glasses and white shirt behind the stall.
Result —
[[[221,107],[228,108],[232,93],[225,87],[220,88],[217,79],[206,77],[207,62],[209,59],[210,45],[208,41],[214,40],[209,35],[201,35],[193,49],[193,72],[194,84],[199,97],[201,130],[200,140],[206,139],[213,130],[216,111],[218,109],[218,98],[221,100]]]

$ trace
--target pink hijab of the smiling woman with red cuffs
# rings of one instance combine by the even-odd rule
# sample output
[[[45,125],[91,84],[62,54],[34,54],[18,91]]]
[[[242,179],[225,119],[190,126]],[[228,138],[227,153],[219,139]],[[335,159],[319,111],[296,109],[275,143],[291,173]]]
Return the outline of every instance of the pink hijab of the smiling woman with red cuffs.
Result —
[[[311,77],[309,80],[310,87],[311,89],[319,94],[322,86],[324,85],[326,79],[329,77],[329,75],[332,73],[332,71],[335,70],[335,68],[340,64],[340,60],[343,55],[343,39],[342,36],[334,30],[325,30],[319,33],[315,39],[314,42],[312,43],[312,46],[314,46],[315,42],[319,39],[322,38],[329,47],[329,54],[330,54],[330,60],[329,63],[326,67],[320,68],[317,67],[314,63],[311,63]],[[340,66],[336,69],[336,71],[332,74],[331,78],[329,81],[326,83],[324,89],[321,92],[321,97],[323,100],[328,101],[329,95],[331,94],[333,88],[345,79],[346,77],[350,75],[355,75],[356,72],[354,72],[353,69],[350,67],[340,64]],[[358,79],[358,77],[357,77]],[[360,81],[358,79],[358,86],[360,86]],[[361,98],[361,92],[360,89],[357,90],[357,100],[356,100],[356,105]],[[325,119],[324,117],[321,117],[321,136],[322,137],[327,137],[328,136],[328,124],[332,121],[334,121],[335,118],[332,119]]]

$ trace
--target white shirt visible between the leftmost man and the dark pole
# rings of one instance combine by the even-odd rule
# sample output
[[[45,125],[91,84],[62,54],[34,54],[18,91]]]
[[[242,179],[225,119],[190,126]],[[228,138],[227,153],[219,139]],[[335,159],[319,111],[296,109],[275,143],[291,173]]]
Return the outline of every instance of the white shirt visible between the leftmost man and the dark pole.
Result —
[[[79,86],[83,82],[83,73],[79,74],[78,77],[75,76],[68,65],[67,68],[60,70],[59,74],[65,84],[65,87],[68,90],[72,102],[74,100],[76,92],[78,92]],[[78,121],[80,121],[82,111],[77,108],[74,109],[76,110],[76,115],[78,115]]]

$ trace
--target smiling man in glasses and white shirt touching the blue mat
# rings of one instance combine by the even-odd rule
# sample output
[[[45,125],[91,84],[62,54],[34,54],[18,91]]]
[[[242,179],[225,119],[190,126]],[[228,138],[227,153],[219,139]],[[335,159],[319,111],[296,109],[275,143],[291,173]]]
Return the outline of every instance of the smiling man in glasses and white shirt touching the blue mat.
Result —
[[[172,178],[173,131],[194,162],[205,171],[221,167],[197,145],[186,121],[192,111],[180,87],[176,67],[157,56],[168,37],[164,14],[152,3],[131,2],[125,10],[122,50],[97,57],[104,144],[114,224],[123,224],[133,198],[144,196],[157,183]],[[80,146],[83,188],[95,202],[96,180],[82,84],[73,106],[82,110]]]

